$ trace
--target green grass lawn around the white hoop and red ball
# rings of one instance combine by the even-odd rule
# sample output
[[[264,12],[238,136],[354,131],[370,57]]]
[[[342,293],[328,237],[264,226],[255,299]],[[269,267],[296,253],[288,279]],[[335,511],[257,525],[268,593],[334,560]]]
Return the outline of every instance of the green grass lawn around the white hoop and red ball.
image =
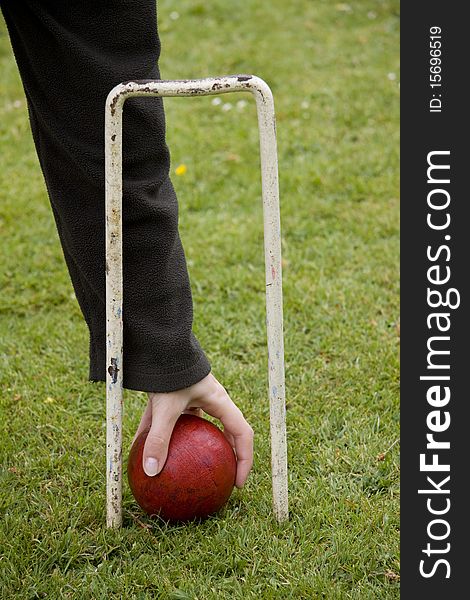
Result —
[[[179,18],[170,18],[177,10]],[[166,101],[195,331],[255,429],[203,524],[105,521],[105,404],[0,24],[0,597],[398,598],[398,2],[161,0],[162,76],[256,73],[277,109],[290,521],[269,473],[249,97]],[[246,106],[237,105],[244,98]],[[126,391],[125,454],[145,406]]]

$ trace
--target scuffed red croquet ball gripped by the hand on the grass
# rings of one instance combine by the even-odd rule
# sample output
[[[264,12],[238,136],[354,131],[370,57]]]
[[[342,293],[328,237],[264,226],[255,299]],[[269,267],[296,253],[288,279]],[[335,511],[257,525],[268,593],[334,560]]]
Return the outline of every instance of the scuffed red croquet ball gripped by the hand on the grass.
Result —
[[[235,453],[218,427],[194,415],[182,414],[170,439],[168,458],[158,475],[149,477],[142,465],[147,431],[139,434],[129,453],[127,476],[138,504],[165,521],[191,521],[217,512],[235,484]]]

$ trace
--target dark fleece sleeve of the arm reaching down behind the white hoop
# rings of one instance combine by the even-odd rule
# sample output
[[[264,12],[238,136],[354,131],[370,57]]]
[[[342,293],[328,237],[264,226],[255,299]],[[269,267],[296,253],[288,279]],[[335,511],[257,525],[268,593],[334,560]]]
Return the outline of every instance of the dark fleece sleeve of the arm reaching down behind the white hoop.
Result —
[[[155,0],[0,0],[72,284],[106,380],[104,105],[111,88],[159,79]],[[124,387],[169,392],[210,364],[192,333],[163,103],[131,98],[123,123]],[[47,282],[46,282],[47,283]]]

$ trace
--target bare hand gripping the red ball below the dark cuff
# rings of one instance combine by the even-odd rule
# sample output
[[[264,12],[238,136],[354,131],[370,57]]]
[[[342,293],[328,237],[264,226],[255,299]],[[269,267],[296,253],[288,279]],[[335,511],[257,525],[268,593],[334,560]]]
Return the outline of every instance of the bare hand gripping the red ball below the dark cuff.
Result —
[[[223,433],[237,456],[235,485],[243,487],[253,464],[253,429],[212,373],[188,388],[149,393],[148,397],[147,408],[132,441],[134,443],[142,431],[150,428],[143,452],[143,468],[147,475],[158,475],[163,469],[173,427],[180,414],[198,414],[202,409],[222,422]]]

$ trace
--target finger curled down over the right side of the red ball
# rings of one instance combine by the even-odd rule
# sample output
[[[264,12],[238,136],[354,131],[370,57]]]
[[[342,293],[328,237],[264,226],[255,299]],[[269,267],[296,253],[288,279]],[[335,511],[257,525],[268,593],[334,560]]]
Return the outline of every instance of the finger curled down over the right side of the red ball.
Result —
[[[243,487],[253,466],[253,429],[223,388],[217,394],[205,398],[200,405],[206,413],[219,419],[224,431],[227,430],[232,435],[237,455],[235,485]]]

